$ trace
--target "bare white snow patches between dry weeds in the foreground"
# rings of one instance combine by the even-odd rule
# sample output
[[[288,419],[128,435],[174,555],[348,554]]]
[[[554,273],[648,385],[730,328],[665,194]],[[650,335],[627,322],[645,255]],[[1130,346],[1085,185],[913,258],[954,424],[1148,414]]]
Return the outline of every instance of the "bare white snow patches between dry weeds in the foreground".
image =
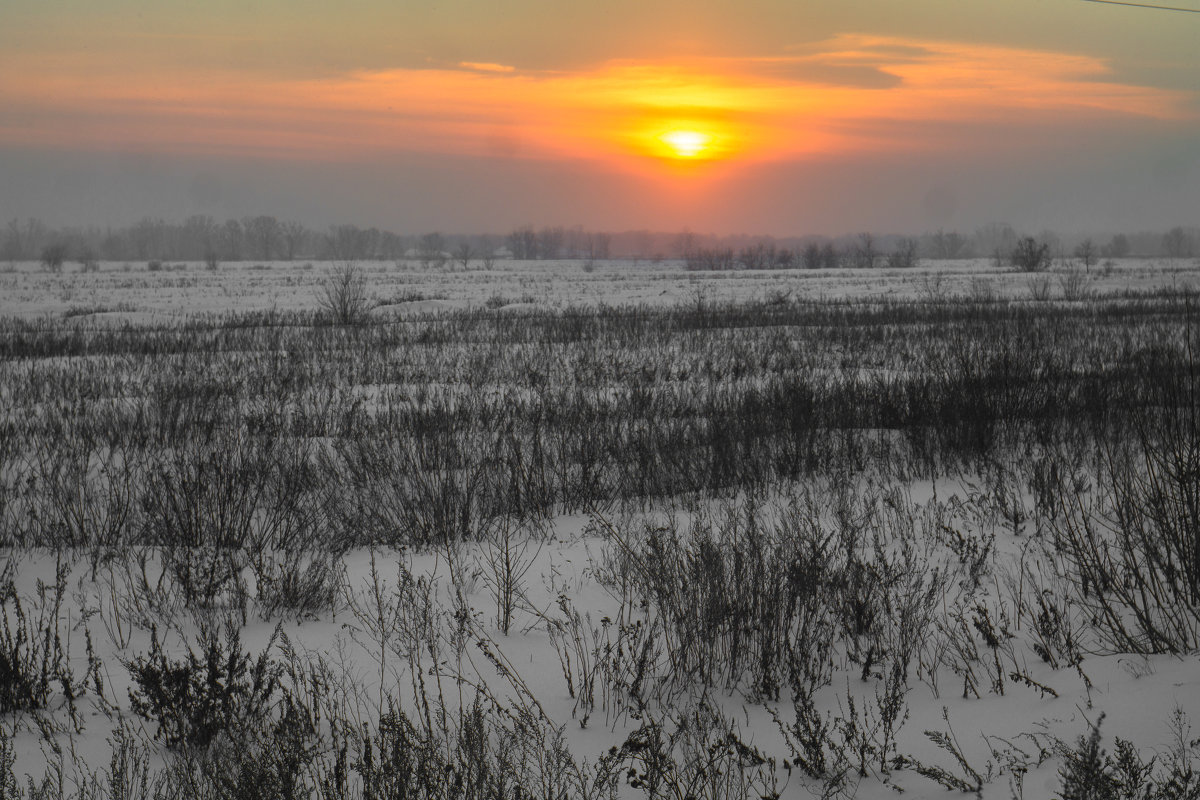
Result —
[[[955,493],[955,487],[946,486],[937,503],[954,506],[959,500],[961,495]],[[919,501],[916,503],[914,515],[919,517],[925,510]],[[934,504],[934,500],[928,499],[925,503]],[[966,522],[966,517],[976,511],[960,506],[960,512],[965,516],[956,521],[958,524]],[[955,524],[954,521],[947,522]],[[536,699],[552,723],[564,728],[564,738],[571,751],[580,758],[595,760],[611,747],[619,746],[637,727],[637,714],[632,712],[631,716],[630,708],[617,697],[598,699],[590,711],[581,710],[577,700],[569,694],[563,661],[550,633],[556,630],[569,631],[571,613],[577,612],[583,621],[586,649],[593,650],[589,654],[593,660],[600,660],[605,657],[601,648],[593,645],[604,640],[604,632],[611,632],[616,627],[614,624],[601,620],[624,616],[628,621],[644,619],[644,614],[638,609],[623,608],[612,588],[598,583],[600,565],[611,558],[618,546],[610,537],[598,536],[595,525],[588,523],[588,519],[580,517],[563,517],[544,523],[540,531],[544,539],[539,537],[528,553],[529,570],[520,582],[520,596],[508,634],[498,626],[497,603],[492,591],[498,575],[488,563],[490,547],[486,545],[462,545],[450,551],[422,553],[347,553],[343,561],[343,596],[336,612],[319,619],[292,619],[282,624],[276,619],[260,619],[256,613],[252,578],[247,579],[250,610],[245,620],[236,603],[223,607],[218,603],[199,613],[181,610],[157,616],[151,613],[149,618],[156,619],[162,626],[158,636],[168,643],[168,650],[176,654],[182,652],[184,639],[194,646],[200,624],[212,625],[215,620],[232,619],[232,625],[241,630],[246,649],[253,654],[260,652],[272,642],[272,633],[280,625],[289,646],[300,654],[299,658],[323,658],[334,670],[331,674],[342,681],[341,688],[348,694],[348,698],[343,698],[347,705],[354,706],[362,718],[370,720],[379,712],[380,685],[385,691],[398,690],[397,693],[403,697],[413,680],[410,664],[397,656],[403,646],[408,646],[396,642],[402,634],[371,630],[376,589],[380,589],[384,597],[392,596],[396,602],[403,602],[391,595],[397,588],[397,576],[425,578],[433,588],[434,608],[443,626],[443,636],[446,637],[440,643],[440,663],[436,666],[428,657],[421,661],[431,685],[440,678],[445,691],[455,694],[463,691],[458,685],[458,679],[462,679],[468,686],[468,696],[474,692],[472,685],[487,685],[490,693],[512,706]],[[964,525],[962,533],[970,537],[978,535],[978,527],[972,530]],[[946,603],[952,609],[983,603],[1012,613],[1012,596],[1003,582],[1015,575],[1013,564],[1028,546],[1027,536],[1002,533],[997,537],[994,566],[989,569],[991,585],[971,591],[965,591],[962,587],[947,587],[938,603]],[[55,557],[48,553],[11,553],[8,558],[18,593],[32,606],[32,599],[38,594],[38,583],[53,585],[55,582]],[[65,558],[70,559],[71,554]],[[925,558],[930,563],[943,565],[953,563],[953,558],[936,549],[931,549]],[[101,768],[110,759],[112,736],[118,729],[132,730],[145,741],[154,741],[155,724],[130,711],[131,680],[122,667],[124,661],[148,650],[150,636],[144,627],[145,622],[137,619],[137,603],[131,597],[122,600],[122,589],[114,590],[114,587],[128,585],[125,583],[128,577],[125,571],[130,565],[122,564],[119,558],[94,573],[83,554],[79,559],[70,565],[70,576],[66,578],[68,597],[60,609],[60,624],[71,637],[66,646],[77,675],[88,670],[88,654],[82,637],[83,631],[90,632],[96,644],[95,656],[103,664],[107,693],[103,699],[98,699],[95,692],[83,698],[78,709],[78,723],[71,721],[62,698],[56,698],[53,708],[44,714],[46,718],[56,721],[55,733],[46,733],[54,729],[53,724],[35,724],[28,717],[23,721],[10,718],[6,724],[16,724],[17,728],[17,775],[29,772],[40,776],[46,765],[55,763],[61,754],[65,754],[68,768],[71,759],[76,759],[77,764],[102,771]],[[461,651],[454,649],[450,639],[456,589],[462,591],[470,615],[470,640]],[[401,609],[392,612],[403,613]],[[1030,621],[1025,620],[1025,625],[1028,626]],[[593,634],[598,638],[593,639]],[[389,637],[391,640],[385,642]],[[931,654],[944,634],[931,628],[924,637],[923,648],[926,651],[922,657],[934,657]],[[1042,798],[1055,795],[1062,782],[1058,775],[1062,759],[1052,752],[1055,740],[1074,745],[1075,739],[1086,734],[1090,724],[1102,715],[1102,730],[1108,750],[1112,750],[1114,738],[1121,736],[1136,742],[1145,754],[1159,753],[1163,758],[1180,746],[1180,732],[1172,726],[1175,715],[1182,711],[1187,720],[1200,718],[1200,664],[1195,655],[1086,656],[1078,668],[1063,666],[1052,669],[1034,654],[1032,640],[1027,631],[1014,631],[1013,640],[1006,643],[1000,658],[1003,672],[1020,669],[1036,685],[1021,685],[1006,676],[1002,690],[989,688],[988,675],[996,670],[988,663],[992,656],[986,651],[980,662],[973,664],[984,681],[979,687],[979,697],[973,693],[964,697],[964,678],[952,667],[953,658],[947,657],[943,663],[932,664],[929,669],[918,670],[914,667],[904,697],[907,718],[900,727],[895,753],[925,765],[942,768],[948,774],[973,783],[970,772],[958,763],[956,757],[936,746],[928,735],[928,732],[952,733],[967,764],[985,781],[982,796]],[[271,646],[272,652],[282,658],[278,655],[278,638],[274,639]],[[562,642],[559,646],[563,646]],[[979,646],[983,648],[982,644]],[[487,651],[503,657],[520,685],[505,675],[498,675]],[[388,655],[382,658],[382,654]],[[389,657],[391,662],[388,661]],[[877,715],[878,709],[872,703],[877,702],[877,692],[883,685],[882,676],[874,674],[864,680],[860,664],[848,661],[844,650],[835,651],[833,660],[832,680],[816,698],[820,710],[829,714],[836,724],[839,720],[851,718],[847,698],[853,698],[859,704],[860,714]],[[595,664],[593,668],[596,668]],[[665,661],[659,668],[667,669]],[[574,678],[578,681],[581,664],[576,661],[572,669]],[[602,674],[601,670],[601,676]],[[600,691],[607,690],[599,690],[598,694]],[[1049,691],[1056,696],[1050,696]],[[671,697],[680,706],[673,709],[676,712],[696,702],[696,697],[688,693],[676,692]],[[778,715],[785,723],[792,718],[786,690],[779,699],[752,700],[744,688],[715,688],[710,690],[707,699],[727,715],[725,723],[733,726],[745,744],[757,747],[764,754],[773,754],[779,764],[790,758],[780,724],[773,720],[773,715]],[[456,708],[457,703],[455,694],[450,698],[450,708]],[[670,718],[671,712],[671,709],[659,710],[665,718]],[[1190,733],[1190,729],[1184,730],[1186,739]],[[61,753],[54,751],[55,746],[61,748]],[[166,763],[166,753],[160,752],[156,746],[151,747],[156,754],[150,763],[158,764],[160,759]],[[1039,747],[1044,748],[1040,754]],[[1039,763],[1043,758],[1044,763]],[[1015,772],[1014,764],[1018,769]],[[1022,770],[1027,770],[1027,774]],[[782,766],[776,766],[775,771],[779,784],[786,786],[784,796],[809,796],[810,792],[820,793],[826,784],[824,781],[804,776],[798,769],[788,774]],[[881,771],[877,764],[869,765],[866,776],[851,770],[846,780],[838,784],[845,794],[863,798],[892,796],[894,790],[904,790],[908,796],[941,796],[946,792],[913,769]],[[1019,790],[1021,786],[1024,795]],[[623,796],[641,795],[626,787]]]

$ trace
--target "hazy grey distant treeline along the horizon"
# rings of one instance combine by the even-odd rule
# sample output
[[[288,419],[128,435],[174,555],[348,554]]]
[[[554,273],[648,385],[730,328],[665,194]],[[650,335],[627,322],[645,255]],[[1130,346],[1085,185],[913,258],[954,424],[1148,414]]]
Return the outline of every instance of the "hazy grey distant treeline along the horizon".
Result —
[[[52,228],[40,219],[12,219],[0,235],[0,259],[79,261],[132,260],[421,260],[442,263],[491,258],[661,260],[684,258],[695,269],[906,265],[913,259],[986,258],[1012,253],[1031,234],[992,223],[971,233],[937,230],[920,236],[715,236],[689,230],[604,233],[576,227],[526,225],[509,234],[396,234],[353,224],[313,229],[259,215],[218,222],[208,215],[182,222],[144,218],[118,228]],[[1054,258],[1068,258],[1085,243],[1050,230],[1032,235]],[[1102,258],[1128,255],[1187,258],[1200,252],[1200,228],[1116,233],[1087,240]],[[695,264],[692,264],[695,261]],[[710,263],[712,261],[712,263]]]

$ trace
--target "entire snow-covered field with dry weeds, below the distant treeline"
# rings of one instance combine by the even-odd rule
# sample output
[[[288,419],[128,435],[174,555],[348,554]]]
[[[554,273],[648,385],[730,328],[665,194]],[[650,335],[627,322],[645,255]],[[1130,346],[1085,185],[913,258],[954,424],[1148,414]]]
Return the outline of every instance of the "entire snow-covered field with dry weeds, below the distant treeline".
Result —
[[[0,798],[1198,796],[1200,265],[336,266],[0,271]]]

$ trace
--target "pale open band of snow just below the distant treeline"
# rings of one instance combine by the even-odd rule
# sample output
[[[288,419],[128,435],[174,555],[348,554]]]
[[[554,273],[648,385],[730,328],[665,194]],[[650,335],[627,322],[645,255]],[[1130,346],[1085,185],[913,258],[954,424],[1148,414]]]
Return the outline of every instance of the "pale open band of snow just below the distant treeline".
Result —
[[[40,264],[0,265],[0,317],[72,314],[97,324],[169,320],[184,314],[314,309],[322,283],[337,265],[328,261],[226,264],[101,263],[95,272],[74,265],[58,275]],[[762,270],[692,272],[680,261],[496,261],[422,270],[416,264],[359,263],[379,314],[436,313],[478,307],[568,308],[587,305],[672,305],[734,300],[1061,297],[1078,266],[1044,275],[997,267],[990,259],[925,261],[913,270]],[[1118,259],[1093,266],[1082,288],[1103,293],[1200,287],[1193,259]],[[80,320],[84,321],[84,320]]]

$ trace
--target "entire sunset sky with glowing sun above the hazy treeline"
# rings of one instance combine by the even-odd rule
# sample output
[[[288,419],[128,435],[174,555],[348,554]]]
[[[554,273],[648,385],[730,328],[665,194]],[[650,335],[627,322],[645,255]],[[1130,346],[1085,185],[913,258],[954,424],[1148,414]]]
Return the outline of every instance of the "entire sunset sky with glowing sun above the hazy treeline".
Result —
[[[4,0],[0,217],[1165,229],[1198,92],[1084,0]]]

